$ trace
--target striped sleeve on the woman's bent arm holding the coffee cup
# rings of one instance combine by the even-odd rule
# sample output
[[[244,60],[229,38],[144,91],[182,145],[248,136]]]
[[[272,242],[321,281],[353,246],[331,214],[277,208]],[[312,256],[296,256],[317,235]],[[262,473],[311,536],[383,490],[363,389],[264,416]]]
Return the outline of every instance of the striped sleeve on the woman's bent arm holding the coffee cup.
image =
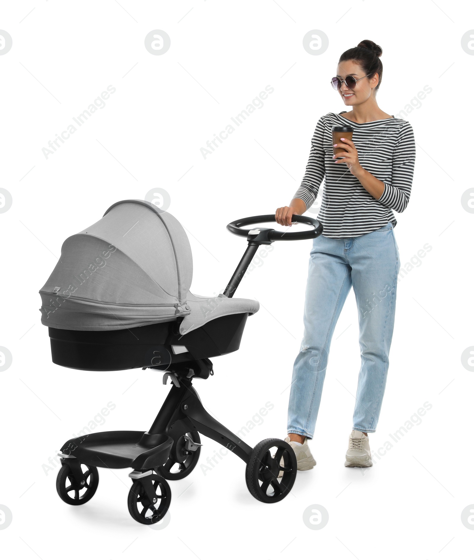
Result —
[[[403,212],[408,205],[415,167],[415,137],[410,123],[406,123],[400,130],[400,138],[393,151],[392,181],[383,181],[384,189],[378,202],[395,210]]]

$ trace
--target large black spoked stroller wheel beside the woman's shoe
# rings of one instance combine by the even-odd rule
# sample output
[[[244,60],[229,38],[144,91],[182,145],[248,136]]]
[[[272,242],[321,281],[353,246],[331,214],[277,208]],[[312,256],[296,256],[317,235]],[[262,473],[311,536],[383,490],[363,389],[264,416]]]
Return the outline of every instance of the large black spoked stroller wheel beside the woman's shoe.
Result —
[[[279,479],[280,470],[283,470],[283,477]],[[296,473],[297,462],[292,447],[286,441],[270,437],[252,449],[245,469],[245,482],[254,498],[274,503],[287,496],[293,487]]]

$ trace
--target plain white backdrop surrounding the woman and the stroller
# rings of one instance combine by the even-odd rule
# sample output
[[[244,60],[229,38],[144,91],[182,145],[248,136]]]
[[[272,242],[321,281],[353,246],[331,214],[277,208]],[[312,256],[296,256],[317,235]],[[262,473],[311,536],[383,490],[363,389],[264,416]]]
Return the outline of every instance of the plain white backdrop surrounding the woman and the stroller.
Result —
[[[201,560],[284,558],[468,558],[474,531],[461,522],[474,503],[474,373],[461,363],[472,333],[470,105],[474,58],[461,48],[474,27],[459,2],[31,2],[4,3],[0,27],[13,46],[0,57],[0,186],[13,197],[0,214],[0,346],[13,363],[0,373],[0,503],[13,512],[0,531],[7,558],[137,558],[181,555]],[[26,17],[25,17],[26,16]],[[22,20],[22,21],[21,21]],[[166,54],[144,48],[149,31],[171,38]],[[325,53],[303,49],[303,36],[326,33]],[[344,468],[360,365],[353,293],[332,342],[315,438],[315,469],[299,473],[276,505],[257,502],[234,455],[204,475],[219,447],[203,437],[200,464],[171,481],[170,524],[140,526],[126,507],[129,470],[100,470],[86,505],[63,503],[58,467],[49,459],[93,417],[116,408],[98,430],[147,430],[168,388],[141,370],[86,372],[51,363],[37,293],[66,237],[100,219],[114,202],[143,199],[153,188],[189,232],[194,293],[226,286],[245,240],[226,224],[288,204],[307,162],[317,120],[342,111],[330,78],[344,50],[363,39],[382,46],[378,104],[406,117],[416,140],[410,204],[397,216],[402,267],[432,246],[398,286],[391,366],[374,451],[431,404],[421,423],[372,469]],[[103,109],[45,158],[41,149],[107,86]],[[274,92],[212,155],[200,148],[231,116],[270,85]],[[432,91],[417,101],[419,91]],[[454,129],[454,130],[453,130]],[[464,136],[466,134],[466,136]],[[461,171],[461,172],[459,172]],[[316,216],[316,214],[311,214]],[[311,241],[276,243],[238,288],[260,301],[240,351],[214,360],[215,375],[195,385],[204,405],[238,431],[265,403],[246,441],[286,435],[292,365],[302,338]],[[382,451],[383,452],[383,451]],[[54,463],[53,463],[54,464]],[[329,515],[308,529],[303,511]],[[474,508],[474,506],[473,506]],[[471,529],[474,525],[471,526]]]

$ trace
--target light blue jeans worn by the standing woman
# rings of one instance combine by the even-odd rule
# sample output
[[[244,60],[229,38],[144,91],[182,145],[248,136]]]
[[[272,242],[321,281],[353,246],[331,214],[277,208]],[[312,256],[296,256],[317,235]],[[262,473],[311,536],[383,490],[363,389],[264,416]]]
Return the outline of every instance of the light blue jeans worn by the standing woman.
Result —
[[[313,241],[304,335],[290,389],[288,433],[313,437],[332,334],[351,286],[358,307],[362,361],[353,430],[376,431],[387,380],[399,269],[391,222],[358,237],[320,235]]]

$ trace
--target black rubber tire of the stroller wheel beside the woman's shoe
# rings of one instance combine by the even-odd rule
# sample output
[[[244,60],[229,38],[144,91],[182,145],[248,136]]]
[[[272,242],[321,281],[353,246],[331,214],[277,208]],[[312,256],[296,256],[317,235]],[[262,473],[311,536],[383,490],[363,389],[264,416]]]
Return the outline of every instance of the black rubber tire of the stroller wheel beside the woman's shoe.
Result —
[[[275,445],[278,445],[279,447],[284,447],[289,452],[290,461],[292,462],[293,470],[291,473],[289,473],[291,474],[291,476],[288,476],[285,479],[284,477],[287,476],[288,474],[285,473],[283,475],[283,478],[280,479],[281,480],[281,482],[279,483],[280,485],[284,481],[284,491],[281,494],[279,494],[279,496],[273,497],[273,496],[267,496],[266,494],[264,495],[262,493],[260,489],[259,479],[256,476],[256,472],[259,468],[258,465],[260,464],[260,460],[262,456],[265,454],[264,450],[270,449],[270,447],[273,447]],[[275,503],[275,502],[279,502],[280,500],[283,500],[283,498],[285,498],[289,494],[290,490],[293,488],[293,484],[296,479],[296,473],[297,473],[297,460],[292,447],[289,444],[287,444],[286,441],[280,440],[279,438],[275,438],[275,437],[269,437],[266,440],[260,441],[250,452],[250,456],[248,457],[248,463],[245,469],[245,482],[247,483],[248,491],[252,494],[252,496],[254,496],[254,498],[256,498],[256,500],[259,500],[260,502],[264,502],[264,503]]]

